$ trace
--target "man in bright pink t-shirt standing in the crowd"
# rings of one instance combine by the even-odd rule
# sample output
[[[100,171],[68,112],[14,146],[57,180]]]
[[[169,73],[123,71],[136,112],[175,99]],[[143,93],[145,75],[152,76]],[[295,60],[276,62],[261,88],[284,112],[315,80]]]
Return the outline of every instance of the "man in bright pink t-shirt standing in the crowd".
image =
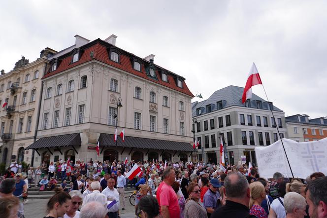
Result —
[[[157,190],[157,200],[163,218],[179,218],[180,215],[177,195],[171,187],[175,179],[174,168],[167,167],[163,171],[163,182],[160,183]]]

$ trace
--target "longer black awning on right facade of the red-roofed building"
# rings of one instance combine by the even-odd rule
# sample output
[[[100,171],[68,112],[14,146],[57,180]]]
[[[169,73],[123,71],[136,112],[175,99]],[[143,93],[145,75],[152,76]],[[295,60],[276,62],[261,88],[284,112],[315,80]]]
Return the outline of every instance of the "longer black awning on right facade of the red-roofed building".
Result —
[[[114,135],[101,133],[99,137],[100,146],[115,146]],[[119,147],[134,147],[145,149],[159,149],[159,150],[179,150],[193,152],[193,146],[190,143],[147,139],[140,137],[125,136],[125,142],[117,137],[117,146]]]

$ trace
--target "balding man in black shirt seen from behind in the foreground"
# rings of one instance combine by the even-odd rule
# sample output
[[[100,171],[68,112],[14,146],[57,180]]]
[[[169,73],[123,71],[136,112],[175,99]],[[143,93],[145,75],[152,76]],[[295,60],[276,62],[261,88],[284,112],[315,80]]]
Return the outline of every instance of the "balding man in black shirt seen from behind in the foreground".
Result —
[[[226,218],[255,218],[249,214],[250,188],[246,178],[232,172],[225,179],[226,204],[212,213],[212,217]]]

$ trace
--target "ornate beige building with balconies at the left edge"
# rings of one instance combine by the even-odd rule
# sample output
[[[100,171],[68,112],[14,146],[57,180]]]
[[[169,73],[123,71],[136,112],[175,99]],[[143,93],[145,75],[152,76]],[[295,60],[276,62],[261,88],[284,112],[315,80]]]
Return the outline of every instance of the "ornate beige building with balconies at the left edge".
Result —
[[[40,78],[48,63],[46,55],[53,52],[46,48],[41,51],[40,58],[32,63],[22,57],[12,71],[1,71],[0,157],[1,163],[6,166],[13,161],[32,161],[32,152],[25,148],[35,141],[42,89]]]

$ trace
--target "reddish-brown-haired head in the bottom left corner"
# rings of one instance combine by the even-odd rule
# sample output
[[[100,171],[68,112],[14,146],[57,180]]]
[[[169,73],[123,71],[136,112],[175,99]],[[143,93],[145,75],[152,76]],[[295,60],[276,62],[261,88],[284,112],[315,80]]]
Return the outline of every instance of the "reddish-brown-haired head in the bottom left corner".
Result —
[[[17,218],[19,200],[14,196],[0,198],[0,217]]]

